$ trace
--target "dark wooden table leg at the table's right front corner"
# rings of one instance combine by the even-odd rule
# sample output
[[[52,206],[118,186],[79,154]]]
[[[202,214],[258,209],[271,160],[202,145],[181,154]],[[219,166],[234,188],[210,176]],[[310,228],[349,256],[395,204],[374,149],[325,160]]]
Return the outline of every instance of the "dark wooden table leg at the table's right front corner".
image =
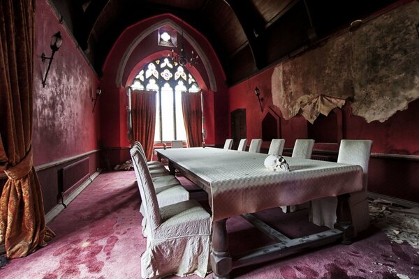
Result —
[[[349,194],[339,195],[337,197],[336,223],[335,228],[344,232],[343,244],[351,244],[355,236],[355,230],[352,225],[351,207],[349,206]]]

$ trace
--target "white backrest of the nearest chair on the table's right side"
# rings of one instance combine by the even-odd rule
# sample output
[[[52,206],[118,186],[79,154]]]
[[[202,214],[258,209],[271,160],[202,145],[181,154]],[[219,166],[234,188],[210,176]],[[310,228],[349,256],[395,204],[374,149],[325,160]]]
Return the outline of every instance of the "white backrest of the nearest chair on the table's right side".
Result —
[[[337,163],[360,165],[364,171],[363,186],[367,190],[369,155],[372,140],[341,140]]]

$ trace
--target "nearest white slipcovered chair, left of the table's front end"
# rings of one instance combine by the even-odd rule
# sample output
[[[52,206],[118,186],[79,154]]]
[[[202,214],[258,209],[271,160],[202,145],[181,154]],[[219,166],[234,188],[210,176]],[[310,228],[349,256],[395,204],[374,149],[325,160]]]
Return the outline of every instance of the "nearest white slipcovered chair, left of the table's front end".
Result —
[[[141,256],[142,278],[170,274],[205,277],[210,271],[211,216],[195,200],[159,206],[152,177],[141,156],[139,188],[147,218],[147,248]],[[133,159],[133,160],[134,160]]]

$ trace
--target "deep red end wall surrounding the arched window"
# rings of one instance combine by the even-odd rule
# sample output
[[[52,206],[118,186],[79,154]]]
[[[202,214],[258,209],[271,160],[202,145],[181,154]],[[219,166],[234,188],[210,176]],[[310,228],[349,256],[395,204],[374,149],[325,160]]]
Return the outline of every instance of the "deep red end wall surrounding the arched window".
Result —
[[[129,146],[126,136],[126,106],[128,105],[126,88],[131,84],[133,77],[135,77],[138,71],[145,66],[145,63],[151,59],[166,56],[171,49],[157,46],[157,34],[156,31],[153,31],[133,49],[133,52],[128,57],[126,66],[122,71],[121,85],[117,84],[116,80],[119,64],[124,59],[124,53],[130,44],[135,41],[135,38],[140,36],[149,26],[164,20],[172,20],[176,24],[181,25],[184,32],[189,33],[197,41],[211,63],[217,89],[215,93],[210,89],[209,77],[202,61],[198,66],[189,68],[203,89],[206,144],[221,144],[227,137],[228,89],[225,85],[225,77],[219,60],[211,45],[200,33],[187,24],[182,23],[177,17],[168,14],[151,17],[126,29],[119,36],[105,61],[103,77],[101,78],[101,88],[103,88],[103,96],[101,96],[101,143],[105,149]],[[189,47],[189,44],[186,44],[186,48]],[[116,163],[121,162],[111,162],[111,165]]]

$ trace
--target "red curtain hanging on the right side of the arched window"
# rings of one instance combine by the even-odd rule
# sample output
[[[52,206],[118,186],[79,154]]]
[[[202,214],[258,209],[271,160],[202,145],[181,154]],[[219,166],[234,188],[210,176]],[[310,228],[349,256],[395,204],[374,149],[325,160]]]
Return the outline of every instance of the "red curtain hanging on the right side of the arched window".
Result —
[[[182,110],[188,146],[199,147],[203,143],[201,93],[182,92]]]

